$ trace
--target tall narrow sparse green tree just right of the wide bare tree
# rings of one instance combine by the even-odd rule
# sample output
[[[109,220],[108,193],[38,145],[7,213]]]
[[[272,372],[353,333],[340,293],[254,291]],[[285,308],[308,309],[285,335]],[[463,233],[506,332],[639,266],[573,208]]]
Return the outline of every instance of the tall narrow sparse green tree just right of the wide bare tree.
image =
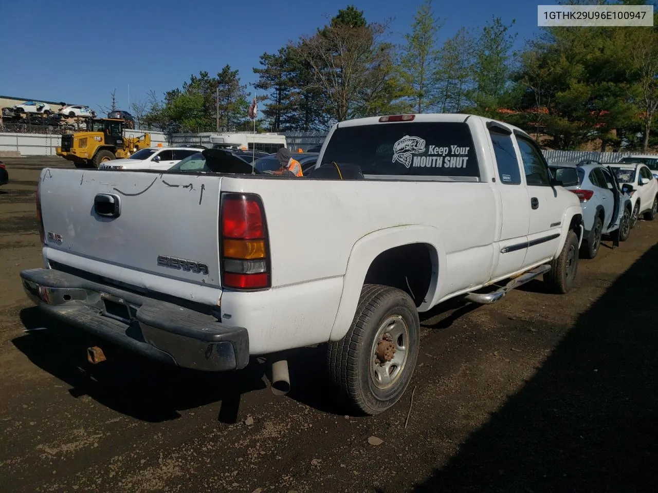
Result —
[[[432,0],[425,0],[414,16],[411,32],[404,35],[406,43],[402,47],[399,74],[417,113],[431,110],[438,100],[436,35],[442,25],[434,18]]]

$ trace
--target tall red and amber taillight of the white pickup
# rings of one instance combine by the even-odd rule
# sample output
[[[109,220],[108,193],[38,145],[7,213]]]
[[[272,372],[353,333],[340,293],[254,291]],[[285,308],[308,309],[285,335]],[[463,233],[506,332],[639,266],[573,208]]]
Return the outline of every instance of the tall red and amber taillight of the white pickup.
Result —
[[[263,203],[256,195],[222,197],[220,248],[222,286],[232,289],[270,287],[267,231]]]

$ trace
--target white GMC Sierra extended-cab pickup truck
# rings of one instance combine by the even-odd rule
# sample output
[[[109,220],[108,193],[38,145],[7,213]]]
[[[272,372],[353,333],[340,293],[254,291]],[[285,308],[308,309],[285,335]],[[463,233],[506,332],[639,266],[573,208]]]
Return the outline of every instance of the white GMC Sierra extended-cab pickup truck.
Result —
[[[578,177],[556,181],[502,122],[350,120],[305,177],[228,168],[45,168],[45,268],[20,273],[26,293],[163,362],[224,371],[263,356],[282,392],[288,350],[328,342],[336,389],[376,414],[409,385],[418,312],[455,296],[492,303],[540,275],[557,293],[574,283],[582,212],[561,185]]]

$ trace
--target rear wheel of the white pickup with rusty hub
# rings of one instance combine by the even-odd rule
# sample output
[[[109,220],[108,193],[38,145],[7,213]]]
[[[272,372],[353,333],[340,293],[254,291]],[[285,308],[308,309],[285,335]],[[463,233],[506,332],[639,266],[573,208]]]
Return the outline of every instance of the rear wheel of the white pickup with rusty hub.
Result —
[[[329,344],[330,378],[351,407],[367,415],[391,408],[407,389],[418,359],[420,321],[409,294],[367,284],[343,339]]]

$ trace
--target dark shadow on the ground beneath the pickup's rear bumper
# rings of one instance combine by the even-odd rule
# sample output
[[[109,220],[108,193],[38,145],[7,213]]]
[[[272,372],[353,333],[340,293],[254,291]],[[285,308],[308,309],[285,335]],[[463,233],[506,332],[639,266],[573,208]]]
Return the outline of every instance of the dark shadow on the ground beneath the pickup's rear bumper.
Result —
[[[28,330],[47,328],[12,341],[32,363],[70,385],[74,398],[88,395],[103,406],[141,421],[177,419],[179,411],[220,402],[218,421],[236,423],[241,397],[269,387],[268,365],[256,358],[240,371],[194,371],[153,362],[99,342],[36,307],[22,310],[20,319]],[[107,361],[92,365],[86,360],[86,348],[95,345],[103,348]],[[291,356],[292,388],[286,397],[320,411],[344,414],[340,404],[324,391],[328,385],[324,381],[324,350],[324,346],[318,346]]]

